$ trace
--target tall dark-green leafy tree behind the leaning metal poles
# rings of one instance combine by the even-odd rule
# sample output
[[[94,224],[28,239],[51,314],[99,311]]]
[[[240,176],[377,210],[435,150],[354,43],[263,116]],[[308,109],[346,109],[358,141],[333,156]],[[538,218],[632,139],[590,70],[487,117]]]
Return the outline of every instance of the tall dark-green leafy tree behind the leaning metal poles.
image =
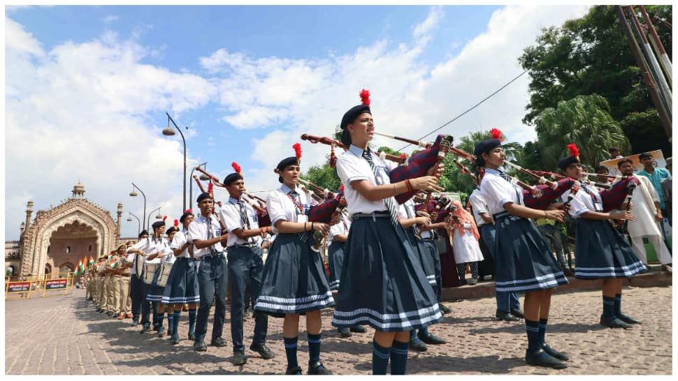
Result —
[[[671,57],[672,6],[645,8]],[[562,27],[542,29],[537,43],[524,50],[519,62],[531,77],[524,123],[535,123],[542,111],[562,100],[598,94],[607,100],[610,115],[632,142],[633,151],[623,154],[657,148],[666,156],[671,154],[614,6],[593,6],[584,17]]]

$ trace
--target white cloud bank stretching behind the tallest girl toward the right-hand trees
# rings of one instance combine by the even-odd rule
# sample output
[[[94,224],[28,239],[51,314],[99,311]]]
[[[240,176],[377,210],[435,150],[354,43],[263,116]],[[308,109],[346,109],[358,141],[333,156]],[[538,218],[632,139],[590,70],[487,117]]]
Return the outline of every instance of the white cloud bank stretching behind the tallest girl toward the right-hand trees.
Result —
[[[298,142],[302,133],[331,136],[345,110],[359,103],[360,89],[372,93],[377,130],[419,138],[521,73],[517,58],[524,47],[535,43],[540,27],[580,17],[586,8],[502,8],[493,13],[486,31],[433,68],[423,63],[421,53],[442,20],[442,9],[435,7],[424,22],[414,26],[409,45],[392,46],[382,40],[357,47],[352,54],[316,60],[254,59],[241,52],[219,50],[201,63],[220,78],[221,102],[235,112],[226,115],[226,121],[237,124],[236,128],[284,126],[253,140],[256,149],[252,159],[259,160],[264,169],[247,179],[248,188],[268,190],[278,186],[271,170],[280,159],[291,155],[291,144]],[[276,86],[266,86],[273,77]],[[498,127],[510,140],[533,139],[534,129],[521,123],[528,102],[527,86],[528,76],[524,75],[440,133],[459,138],[474,130]],[[289,90],[280,95],[284,89]],[[280,96],[271,96],[271,92]],[[404,145],[384,138],[374,143],[396,149]],[[302,147],[306,158],[302,165],[306,168],[324,162],[329,153],[327,146],[304,142]]]

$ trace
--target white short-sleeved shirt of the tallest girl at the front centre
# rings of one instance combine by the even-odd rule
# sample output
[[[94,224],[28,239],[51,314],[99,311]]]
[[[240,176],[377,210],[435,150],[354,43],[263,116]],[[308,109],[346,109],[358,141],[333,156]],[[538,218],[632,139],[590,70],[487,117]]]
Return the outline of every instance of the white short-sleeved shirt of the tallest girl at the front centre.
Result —
[[[351,145],[349,150],[341,154],[337,159],[337,174],[344,184],[344,197],[348,203],[347,210],[349,214],[372,213],[373,211],[388,211],[384,200],[370,201],[361,196],[358,191],[351,186],[355,180],[367,180],[372,186],[381,184],[391,184],[389,172],[397,165],[392,161],[384,161],[372,152],[372,160],[378,167],[377,174],[379,181],[375,179],[370,163],[363,158],[363,149]],[[393,200],[394,205],[398,204]]]

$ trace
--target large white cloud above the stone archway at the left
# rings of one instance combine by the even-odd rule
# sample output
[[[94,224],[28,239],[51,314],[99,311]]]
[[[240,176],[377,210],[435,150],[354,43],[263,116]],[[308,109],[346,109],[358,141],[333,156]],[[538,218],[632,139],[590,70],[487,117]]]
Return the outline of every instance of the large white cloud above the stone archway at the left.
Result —
[[[29,199],[36,210],[48,209],[78,179],[112,213],[122,202],[123,221],[127,211],[142,217],[141,197],[128,195],[131,181],[145,192],[147,211],[178,216],[183,149],[180,139],[160,134],[164,112],[202,107],[216,88],[142,63],[143,47],[112,34],[43,52],[20,24],[6,25],[6,183],[17,184],[6,188],[8,238],[17,236]],[[189,158],[188,167],[196,163]],[[136,229],[136,221],[124,221],[122,234],[136,236]]]

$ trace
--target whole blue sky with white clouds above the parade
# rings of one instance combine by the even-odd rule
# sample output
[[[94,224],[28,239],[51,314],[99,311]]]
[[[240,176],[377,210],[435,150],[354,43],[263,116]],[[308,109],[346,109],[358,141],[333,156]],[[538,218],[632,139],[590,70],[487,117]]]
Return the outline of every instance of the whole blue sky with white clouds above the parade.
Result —
[[[582,6],[55,6],[6,13],[6,236],[26,202],[48,209],[80,179],[109,210],[123,202],[181,212],[182,146],[160,134],[169,112],[190,165],[224,177],[240,163],[251,191],[301,133],[329,135],[370,89],[377,129],[419,137],[519,73],[541,27]],[[442,132],[493,127],[534,136],[521,117],[527,76]],[[377,144],[400,145],[382,141]],[[326,147],[302,144],[307,165]],[[37,151],[38,154],[27,154]],[[73,155],[77,152],[77,155]],[[22,169],[12,165],[21,163]],[[25,180],[29,170],[43,182]],[[115,173],[107,176],[107,171]],[[50,184],[45,190],[43,184]],[[195,188],[195,187],[194,187]],[[218,193],[217,193],[218,195]],[[265,195],[265,193],[261,193]],[[126,214],[127,216],[127,214]],[[123,235],[136,234],[136,221]]]

